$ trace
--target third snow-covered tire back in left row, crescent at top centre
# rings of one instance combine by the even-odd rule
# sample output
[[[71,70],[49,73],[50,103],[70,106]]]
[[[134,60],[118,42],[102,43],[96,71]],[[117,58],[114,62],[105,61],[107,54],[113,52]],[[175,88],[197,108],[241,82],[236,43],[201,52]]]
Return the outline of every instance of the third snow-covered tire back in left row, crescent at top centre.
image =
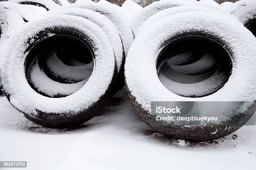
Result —
[[[118,29],[119,34],[123,40],[123,45],[125,48],[125,55],[127,54],[131,43],[133,42],[133,32],[131,30],[131,27],[129,25],[130,18],[123,13],[123,10],[121,7],[118,7],[117,5],[113,4],[107,4],[107,3],[97,3],[92,1],[77,1],[69,7],[81,7],[86,8],[89,10],[96,11],[102,15],[104,15],[106,18],[108,18]]]

